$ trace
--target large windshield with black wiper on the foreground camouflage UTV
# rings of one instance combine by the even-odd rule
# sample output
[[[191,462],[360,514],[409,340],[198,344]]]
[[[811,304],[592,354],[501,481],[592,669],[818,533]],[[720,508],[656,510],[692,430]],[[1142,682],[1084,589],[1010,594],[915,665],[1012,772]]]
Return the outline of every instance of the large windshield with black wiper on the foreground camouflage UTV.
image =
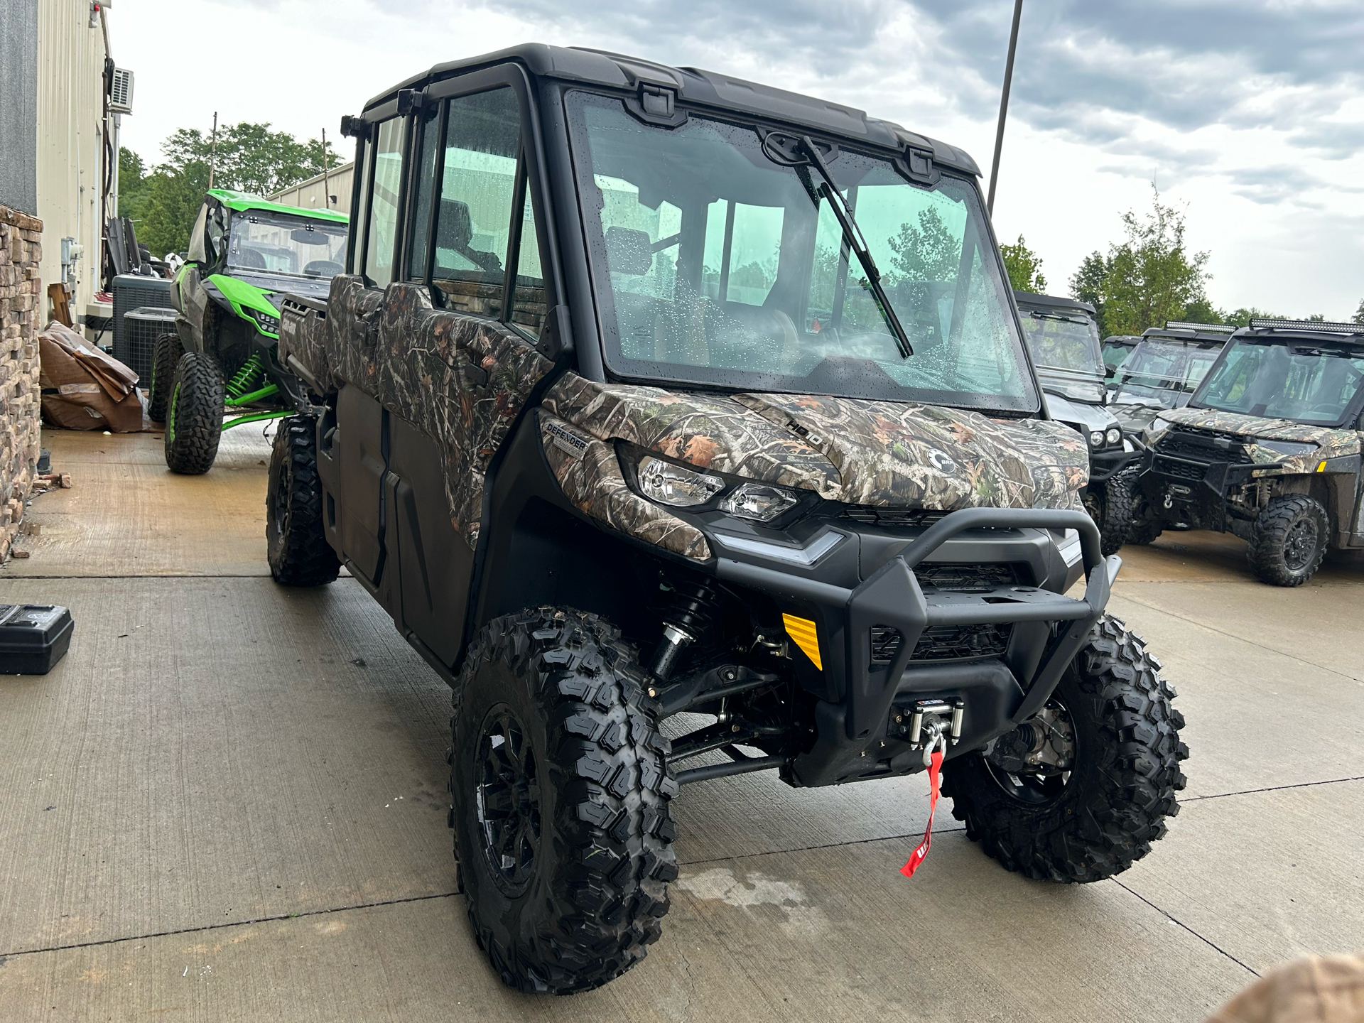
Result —
[[[1037,409],[975,190],[824,150],[914,355],[903,359],[809,164],[752,127],[649,127],[569,95],[607,364],[626,376]]]

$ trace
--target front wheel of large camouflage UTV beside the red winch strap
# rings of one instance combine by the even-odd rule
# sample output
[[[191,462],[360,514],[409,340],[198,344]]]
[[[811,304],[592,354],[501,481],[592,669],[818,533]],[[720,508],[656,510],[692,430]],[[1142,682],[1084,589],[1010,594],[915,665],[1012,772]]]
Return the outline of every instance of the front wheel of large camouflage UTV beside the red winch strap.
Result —
[[[1037,717],[944,765],[967,837],[1008,870],[1063,883],[1112,877],[1150,853],[1178,813],[1188,757],[1159,670],[1140,637],[1101,618]]]

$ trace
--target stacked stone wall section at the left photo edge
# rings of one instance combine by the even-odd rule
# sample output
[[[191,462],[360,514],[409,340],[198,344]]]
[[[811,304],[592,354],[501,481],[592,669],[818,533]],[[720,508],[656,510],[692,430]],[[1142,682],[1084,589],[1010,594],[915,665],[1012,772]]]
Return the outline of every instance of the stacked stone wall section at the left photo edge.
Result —
[[[33,490],[40,434],[42,221],[0,206],[0,561]]]

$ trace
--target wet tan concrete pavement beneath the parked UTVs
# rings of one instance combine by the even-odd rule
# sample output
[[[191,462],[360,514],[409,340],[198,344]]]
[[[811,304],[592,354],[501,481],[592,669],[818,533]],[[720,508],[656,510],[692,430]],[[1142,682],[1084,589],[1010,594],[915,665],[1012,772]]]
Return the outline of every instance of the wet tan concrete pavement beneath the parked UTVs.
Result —
[[[1009,874],[926,780],[690,786],[642,966],[514,994],[445,825],[449,690],[348,578],[276,587],[269,443],[202,477],[153,435],[48,431],[0,602],[72,608],[0,677],[4,1020],[1199,1020],[1274,964],[1364,948],[1364,565],[1256,582],[1240,542],[1125,548],[1113,610],[1180,689],[1183,813],[1117,880]]]

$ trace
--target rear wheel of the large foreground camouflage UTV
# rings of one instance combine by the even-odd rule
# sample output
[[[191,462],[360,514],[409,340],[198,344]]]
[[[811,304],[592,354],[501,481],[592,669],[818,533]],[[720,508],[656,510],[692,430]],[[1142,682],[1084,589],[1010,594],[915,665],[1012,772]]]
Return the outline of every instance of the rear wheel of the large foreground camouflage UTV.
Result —
[[[322,527],[318,420],[280,420],[265,491],[265,542],[270,574],[284,587],[321,587],[341,570]]]

